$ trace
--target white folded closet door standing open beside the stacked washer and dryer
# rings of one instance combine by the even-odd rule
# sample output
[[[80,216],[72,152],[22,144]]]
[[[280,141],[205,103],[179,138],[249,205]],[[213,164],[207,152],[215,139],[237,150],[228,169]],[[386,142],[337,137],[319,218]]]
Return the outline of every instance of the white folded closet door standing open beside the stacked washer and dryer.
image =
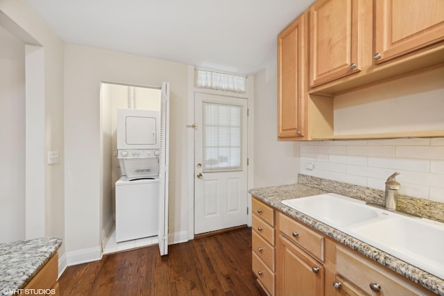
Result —
[[[169,82],[162,83],[160,110],[159,155],[159,239],[160,255],[168,254],[168,204],[169,204]]]

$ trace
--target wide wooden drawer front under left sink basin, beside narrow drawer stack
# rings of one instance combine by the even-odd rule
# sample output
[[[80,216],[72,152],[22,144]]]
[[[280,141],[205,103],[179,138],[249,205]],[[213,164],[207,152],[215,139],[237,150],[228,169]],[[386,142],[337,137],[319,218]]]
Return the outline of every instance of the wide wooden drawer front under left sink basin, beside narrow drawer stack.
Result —
[[[279,230],[316,259],[324,261],[325,238],[321,234],[317,234],[284,214],[279,214]]]

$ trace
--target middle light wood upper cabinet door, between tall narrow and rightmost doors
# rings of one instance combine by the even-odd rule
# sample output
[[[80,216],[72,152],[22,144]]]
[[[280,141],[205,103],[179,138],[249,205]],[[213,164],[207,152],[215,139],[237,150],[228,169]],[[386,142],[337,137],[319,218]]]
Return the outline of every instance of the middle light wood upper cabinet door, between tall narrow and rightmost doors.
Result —
[[[358,0],[318,0],[310,8],[310,86],[361,71]]]

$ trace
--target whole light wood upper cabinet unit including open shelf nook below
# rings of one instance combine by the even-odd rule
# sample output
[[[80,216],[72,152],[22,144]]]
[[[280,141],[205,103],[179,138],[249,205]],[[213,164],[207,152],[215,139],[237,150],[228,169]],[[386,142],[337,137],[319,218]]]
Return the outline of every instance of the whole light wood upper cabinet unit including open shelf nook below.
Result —
[[[444,137],[443,73],[444,0],[317,0],[278,36],[278,139]]]

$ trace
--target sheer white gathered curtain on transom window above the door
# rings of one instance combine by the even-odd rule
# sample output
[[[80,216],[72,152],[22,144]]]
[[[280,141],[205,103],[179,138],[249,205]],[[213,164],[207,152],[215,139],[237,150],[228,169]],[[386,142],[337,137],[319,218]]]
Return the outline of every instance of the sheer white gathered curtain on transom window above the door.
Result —
[[[194,85],[200,88],[245,93],[246,76],[197,69]]]

